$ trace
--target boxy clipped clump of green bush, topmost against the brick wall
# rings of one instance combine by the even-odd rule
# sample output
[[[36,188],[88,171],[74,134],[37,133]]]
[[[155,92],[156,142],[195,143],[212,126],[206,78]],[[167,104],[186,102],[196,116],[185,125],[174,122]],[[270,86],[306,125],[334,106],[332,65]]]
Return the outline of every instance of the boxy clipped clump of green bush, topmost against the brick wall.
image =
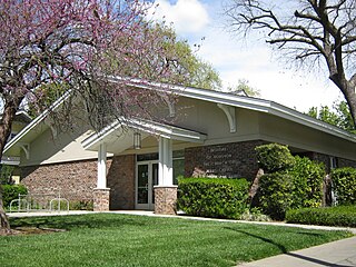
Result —
[[[265,172],[275,172],[291,168],[295,159],[287,146],[268,144],[255,148],[257,162]]]

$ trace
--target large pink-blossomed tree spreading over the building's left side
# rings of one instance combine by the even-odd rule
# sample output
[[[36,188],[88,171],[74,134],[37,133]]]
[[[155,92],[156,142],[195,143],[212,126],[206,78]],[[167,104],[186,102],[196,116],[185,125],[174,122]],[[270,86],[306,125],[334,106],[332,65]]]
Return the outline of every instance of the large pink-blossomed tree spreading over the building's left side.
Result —
[[[127,87],[130,77],[176,82],[186,75],[165,49],[172,40],[146,19],[148,8],[132,0],[0,0],[0,157],[16,111],[47,107],[49,88],[69,89],[60,119],[52,120],[60,126],[71,123],[77,105],[100,129],[112,119],[149,118],[147,107],[169,100]],[[9,230],[0,187],[0,231]]]

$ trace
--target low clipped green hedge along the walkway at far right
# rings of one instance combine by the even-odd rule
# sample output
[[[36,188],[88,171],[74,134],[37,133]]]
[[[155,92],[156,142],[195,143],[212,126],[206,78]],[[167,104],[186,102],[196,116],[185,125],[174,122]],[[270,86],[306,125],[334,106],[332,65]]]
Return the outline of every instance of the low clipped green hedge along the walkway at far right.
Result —
[[[286,220],[303,225],[356,227],[356,206],[290,209]]]

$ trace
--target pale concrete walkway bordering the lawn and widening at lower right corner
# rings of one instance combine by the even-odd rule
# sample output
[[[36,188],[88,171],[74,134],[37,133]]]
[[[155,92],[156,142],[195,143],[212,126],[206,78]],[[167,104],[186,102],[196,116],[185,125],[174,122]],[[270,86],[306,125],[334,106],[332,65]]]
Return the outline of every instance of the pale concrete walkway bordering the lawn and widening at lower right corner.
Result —
[[[63,212],[13,212],[8,214],[9,217],[31,217],[31,216],[61,216],[61,215],[80,215],[92,214],[93,211],[63,211]],[[112,214],[128,214],[139,216],[155,216],[155,217],[172,217],[180,219],[192,220],[215,220],[215,221],[230,221],[243,224],[257,225],[277,225],[286,227],[299,227],[306,229],[323,229],[323,230],[349,230],[356,235],[356,228],[346,227],[327,227],[327,226],[307,226],[307,225],[291,225],[284,222],[259,222],[259,221],[241,221],[241,220],[226,220],[226,219],[210,219],[190,216],[170,216],[170,215],[155,215],[152,211],[142,210],[119,210],[107,211]],[[324,244],[320,246],[306,248],[297,251],[291,251],[251,263],[240,264],[237,267],[316,267],[316,266],[335,266],[335,267],[356,267],[356,236],[334,243]]]

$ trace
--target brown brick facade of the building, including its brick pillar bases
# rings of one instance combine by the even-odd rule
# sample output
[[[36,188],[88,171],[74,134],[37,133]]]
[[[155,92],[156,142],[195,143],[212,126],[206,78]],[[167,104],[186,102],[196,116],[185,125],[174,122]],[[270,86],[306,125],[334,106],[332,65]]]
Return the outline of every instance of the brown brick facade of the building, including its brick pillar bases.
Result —
[[[185,176],[244,177],[251,181],[258,170],[255,147],[263,144],[265,142],[256,140],[186,148]],[[313,160],[324,162],[327,171],[329,170],[329,156],[317,152],[309,152],[308,156]],[[355,161],[343,158],[336,160],[338,167],[356,167]],[[109,205],[109,209],[112,210],[135,209],[136,156],[115,156],[108,159],[107,168],[107,187],[110,188],[110,195],[105,196],[102,199],[106,200],[100,205]],[[58,196],[60,192],[61,197],[69,201],[92,201],[96,199],[96,159],[23,167],[21,177],[22,184],[28,187],[31,194],[56,194]],[[158,212],[172,214],[176,192],[159,188],[155,189],[155,194]],[[160,202],[164,206],[160,206]]]

